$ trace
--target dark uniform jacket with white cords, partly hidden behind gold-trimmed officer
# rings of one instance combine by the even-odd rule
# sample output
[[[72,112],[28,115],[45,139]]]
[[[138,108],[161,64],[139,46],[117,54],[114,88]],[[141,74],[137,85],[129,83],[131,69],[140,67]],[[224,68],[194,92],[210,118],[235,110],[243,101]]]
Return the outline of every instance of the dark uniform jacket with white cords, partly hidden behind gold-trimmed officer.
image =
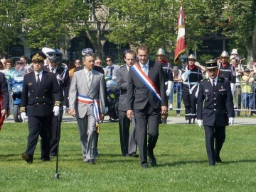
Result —
[[[43,70],[50,72],[49,66],[44,66]],[[58,67],[55,72],[55,76],[57,77],[60,74],[60,77],[63,78],[63,91],[64,91],[64,98],[63,98],[63,106],[68,106],[68,91],[70,86],[70,77],[68,74],[68,69],[64,67]]]

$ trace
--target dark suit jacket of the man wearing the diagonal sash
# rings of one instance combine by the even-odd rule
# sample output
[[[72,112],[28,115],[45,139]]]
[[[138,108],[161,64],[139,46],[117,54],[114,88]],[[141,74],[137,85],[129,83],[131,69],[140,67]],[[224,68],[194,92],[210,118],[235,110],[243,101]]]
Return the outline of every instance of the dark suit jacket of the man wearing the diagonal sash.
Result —
[[[149,60],[148,77],[153,81],[156,89],[159,89],[161,101],[158,101],[146,85],[139,79],[139,77],[137,77],[137,74],[135,74],[132,69],[129,69],[127,89],[128,109],[142,110],[148,102],[154,109],[161,108],[161,106],[168,106],[166,89],[164,86],[164,71],[159,62]]]

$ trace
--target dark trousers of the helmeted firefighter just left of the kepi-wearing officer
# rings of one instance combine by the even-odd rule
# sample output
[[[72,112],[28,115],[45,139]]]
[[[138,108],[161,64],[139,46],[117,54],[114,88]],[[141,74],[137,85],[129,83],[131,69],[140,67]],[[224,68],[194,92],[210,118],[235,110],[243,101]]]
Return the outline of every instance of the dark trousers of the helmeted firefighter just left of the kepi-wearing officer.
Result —
[[[191,118],[196,118],[196,104],[197,104],[197,98],[195,96],[196,90],[197,90],[197,86],[195,87],[195,89],[193,89],[192,94],[189,94],[189,90],[185,88],[182,91],[186,120],[189,120]]]

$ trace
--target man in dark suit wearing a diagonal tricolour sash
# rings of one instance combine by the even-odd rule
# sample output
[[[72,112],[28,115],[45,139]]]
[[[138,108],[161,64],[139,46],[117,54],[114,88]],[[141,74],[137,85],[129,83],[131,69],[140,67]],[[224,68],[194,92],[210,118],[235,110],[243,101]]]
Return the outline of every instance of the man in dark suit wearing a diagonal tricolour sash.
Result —
[[[132,119],[134,110],[140,161],[143,168],[148,168],[146,154],[149,156],[151,166],[156,166],[153,149],[159,136],[159,113],[167,112],[168,101],[161,64],[148,59],[149,50],[145,45],[137,48],[137,57],[139,64],[134,64],[129,69],[127,116]]]

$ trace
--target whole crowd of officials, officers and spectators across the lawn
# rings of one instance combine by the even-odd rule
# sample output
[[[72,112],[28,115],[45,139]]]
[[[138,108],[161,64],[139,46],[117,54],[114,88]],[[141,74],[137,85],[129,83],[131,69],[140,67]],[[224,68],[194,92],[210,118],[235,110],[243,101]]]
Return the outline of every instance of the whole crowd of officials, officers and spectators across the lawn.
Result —
[[[182,69],[171,65],[162,48],[157,50],[155,61],[149,60],[145,45],[139,46],[137,52],[126,50],[123,56],[122,66],[107,56],[105,68],[90,48],[82,50],[82,60],[68,65],[61,64],[60,50],[46,47],[31,55],[32,64],[24,56],[16,64],[2,59],[0,70],[6,77],[24,77],[20,111],[24,121],[28,118],[29,135],[21,157],[27,163],[33,162],[39,136],[41,160],[49,161],[58,155],[58,117],[69,108],[70,115],[77,119],[83,162],[95,164],[95,157],[99,157],[100,122],[109,107],[107,77],[119,90],[119,139],[123,157],[140,157],[145,169],[149,163],[156,166],[154,148],[159,124],[167,123],[168,108],[174,108],[176,94],[176,115],[180,116],[183,101],[186,123],[196,123],[197,119],[199,127],[204,126],[209,164],[222,162],[220,149],[225,141],[225,126],[233,125],[234,108],[240,109],[242,104],[248,115],[252,115],[250,110],[255,107],[252,83],[256,69],[244,69],[244,59],[240,59],[235,49],[231,55],[224,51],[220,57],[206,61],[206,67],[191,54]],[[8,106],[13,105],[10,85],[7,90],[9,99],[5,101],[10,103],[5,104],[2,115],[8,115]]]

